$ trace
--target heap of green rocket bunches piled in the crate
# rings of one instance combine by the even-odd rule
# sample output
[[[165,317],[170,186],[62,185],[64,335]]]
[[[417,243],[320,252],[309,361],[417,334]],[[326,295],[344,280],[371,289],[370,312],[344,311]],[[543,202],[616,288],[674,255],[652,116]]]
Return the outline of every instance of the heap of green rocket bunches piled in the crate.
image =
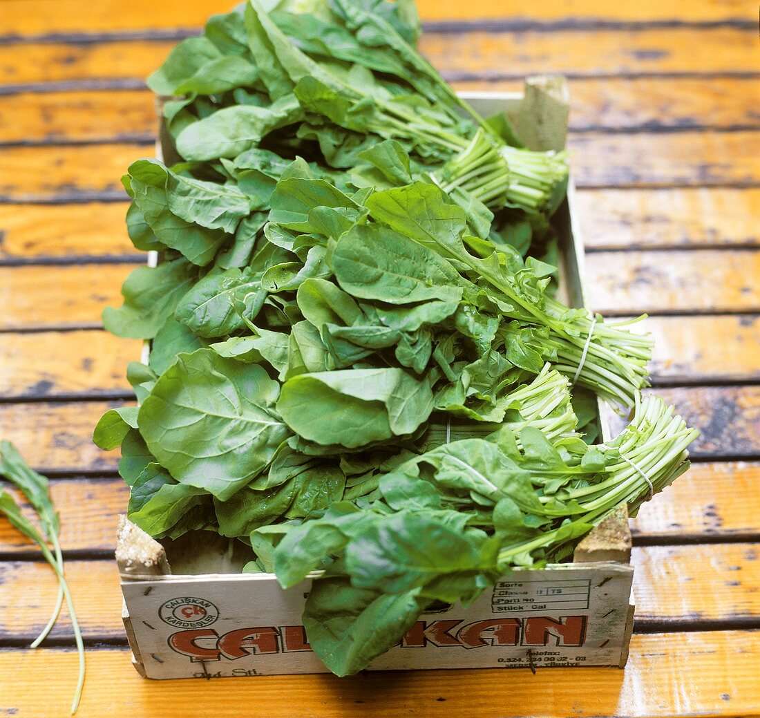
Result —
[[[103,321],[150,357],[94,438],[152,536],[237,539],[285,586],[325,571],[304,621],[345,675],[635,510],[694,432],[640,398],[649,337],[553,296],[564,153],[459,99],[408,0],[306,6],[249,0],[149,78],[177,161],[124,183],[160,261]],[[635,407],[606,446],[594,395]]]

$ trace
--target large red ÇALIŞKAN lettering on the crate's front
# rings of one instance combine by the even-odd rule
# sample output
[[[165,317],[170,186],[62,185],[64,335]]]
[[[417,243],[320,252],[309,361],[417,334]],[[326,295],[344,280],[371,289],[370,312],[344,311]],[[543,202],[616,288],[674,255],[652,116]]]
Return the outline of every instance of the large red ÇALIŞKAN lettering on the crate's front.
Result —
[[[418,621],[401,641],[402,648],[483,646],[582,646],[587,616],[562,618],[489,618],[461,625],[456,619]],[[236,660],[245,656],[295,653],[312,648],[303,626],[258,626],[220,634],[213,628],[177,631],[169,647],[192,661]]]

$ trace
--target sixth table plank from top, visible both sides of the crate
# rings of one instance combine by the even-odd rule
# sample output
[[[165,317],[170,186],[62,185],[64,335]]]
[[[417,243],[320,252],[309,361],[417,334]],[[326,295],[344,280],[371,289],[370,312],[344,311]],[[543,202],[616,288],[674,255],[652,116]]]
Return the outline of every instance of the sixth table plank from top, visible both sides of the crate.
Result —
[[[0,302],[7,308],[0,315],[0,329],[98,326],[104,306],[121,304],[119,288],[135,266],[0,267]],[[758,269],[758,251],[600,252],[589,258],[587,279],[591,306],[609,315],[754,312],[758,289],[753,277],[760,276]],[[697,284],[695,277],[704,278]],[[51,302],[55,312],[49,311]],[[684,331],[693,332],[689,327]],[[727,325],[724,331],[730,336],[732,328]],[[745,336],[753,334],[748,331]],[[673,357],[670,352],[667,356]]]

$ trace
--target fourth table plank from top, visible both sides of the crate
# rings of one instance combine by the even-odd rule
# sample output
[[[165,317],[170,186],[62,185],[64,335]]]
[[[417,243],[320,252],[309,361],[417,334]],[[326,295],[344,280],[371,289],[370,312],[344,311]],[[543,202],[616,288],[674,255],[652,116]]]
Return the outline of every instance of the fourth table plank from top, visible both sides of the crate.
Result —
[[[580,187],[760,183],[760,131],[572,134]],[[120,178],[152,148],[143,144],[7,147],[0,153],[0,201],[70,202],[126,197]],[[24,172],[17,172],[24,167]]]

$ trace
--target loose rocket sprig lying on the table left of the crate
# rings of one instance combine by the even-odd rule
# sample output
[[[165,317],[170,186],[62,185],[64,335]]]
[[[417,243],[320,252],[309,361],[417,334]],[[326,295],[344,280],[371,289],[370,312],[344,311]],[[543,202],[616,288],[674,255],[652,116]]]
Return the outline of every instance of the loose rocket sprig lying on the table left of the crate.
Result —
[[[58,620],[64,599],[71,618],[71,626],[74,629],[74,641],[79,654],[79,678],[74,691],[74,701],[71,704],[71,713],[77,712],[79,699],[84,686],[84,643],[79,630],[77,615],[74,612],[74,603],[71,601],[71,593],[63,573],[63,556],[59,543],[61,524],[59,514],[55,511],[50,496],[48,480],[29,467],[18,449],[10,441],[0,441],[0,479],[5,479],[11,486],[28,501],[30,508],[36,513],[40,523],[37,528],[21,511],[21,507],[14,497],[0,486],[0,514],[4,514],[15,529],[31,539],[40,548],[43,558],[49,563],[58,579],[59,592],[55,601],[50,620],[36,639],[32,642],[32,648],[38,647],[52,631]]]

